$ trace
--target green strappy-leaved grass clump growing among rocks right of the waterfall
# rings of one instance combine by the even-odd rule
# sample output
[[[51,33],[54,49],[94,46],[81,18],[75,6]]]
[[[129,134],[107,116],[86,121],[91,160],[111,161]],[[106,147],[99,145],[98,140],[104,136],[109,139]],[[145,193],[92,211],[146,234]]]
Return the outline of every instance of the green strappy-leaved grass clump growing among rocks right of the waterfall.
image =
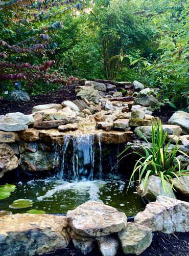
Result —
[[[152,144],[145,138],[143,134],[141,136],[148,142],[149,145],[140,145],[143,148],[143,152],[134,152],[139,156],[139,159],[134,165],[133,172],[129,180],[129,186],[131,181],[134,181],[135,177],[139,178],[139,183],[144,180],[143,188],[147,183],[148,177],[155,175],[161,178],[163,189],[166,193],[173,188],[173,178],[179,179],[180,176],[188,176],[188,171],[181,168],[180,160],[177,157],[178,153],[188,158],[188,156],[179,150],[178,142],[176,142],[173,148],[169,148],[172,139],[168,142],[167,132],[163,132],[161,121],[152,124]],[[119,156],[125,153],[130,147],[127,147]],[[171,186],[167,191],[168,181]],[[128,188],[129,188],[128,186]]]

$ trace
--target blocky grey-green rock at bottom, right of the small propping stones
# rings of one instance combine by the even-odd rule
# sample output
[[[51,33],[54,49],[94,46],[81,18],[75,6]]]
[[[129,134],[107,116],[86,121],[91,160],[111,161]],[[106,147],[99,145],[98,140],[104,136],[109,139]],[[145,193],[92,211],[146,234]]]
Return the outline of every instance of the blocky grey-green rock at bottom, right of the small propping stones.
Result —
[[[152,242],[152,229],[136,223],[128,222],[127,227],[118,232],[118,238],[125,254],[140,254]]]

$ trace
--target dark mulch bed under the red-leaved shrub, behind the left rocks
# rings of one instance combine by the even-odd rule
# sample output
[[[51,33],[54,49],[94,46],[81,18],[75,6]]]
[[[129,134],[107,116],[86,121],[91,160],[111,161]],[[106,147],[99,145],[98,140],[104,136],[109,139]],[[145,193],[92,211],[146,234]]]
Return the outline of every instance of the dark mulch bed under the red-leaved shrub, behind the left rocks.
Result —
[[[7,102],[0,101],[0,115],[11,112],[21,112],[23,114],[31,114],[33,106],[49,103],[59,103],[63,100],[75,100],[75,85],[63,87],[58,91],[46,94],[32,96],[29,102]]]

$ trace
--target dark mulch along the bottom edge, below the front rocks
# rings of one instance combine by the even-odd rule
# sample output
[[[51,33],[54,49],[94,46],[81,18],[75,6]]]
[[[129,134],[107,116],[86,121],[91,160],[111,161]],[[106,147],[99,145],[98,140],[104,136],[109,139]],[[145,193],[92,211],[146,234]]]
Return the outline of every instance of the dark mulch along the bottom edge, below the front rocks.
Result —
[[[45,253],[44,256],[84,256],[78,250],[74,249],[72,243],[69,247],[62,250],[56,250],[54,253]],[[88,256],[102,255],[98,248],[87,254]],[[116,256],[124,256],[121,251]],[[133,254],[127,254],[132,256]],[[189,232],[175,234],[153,233],[151,245],[140,254],[140,256],[188,256],[189,255]]]

